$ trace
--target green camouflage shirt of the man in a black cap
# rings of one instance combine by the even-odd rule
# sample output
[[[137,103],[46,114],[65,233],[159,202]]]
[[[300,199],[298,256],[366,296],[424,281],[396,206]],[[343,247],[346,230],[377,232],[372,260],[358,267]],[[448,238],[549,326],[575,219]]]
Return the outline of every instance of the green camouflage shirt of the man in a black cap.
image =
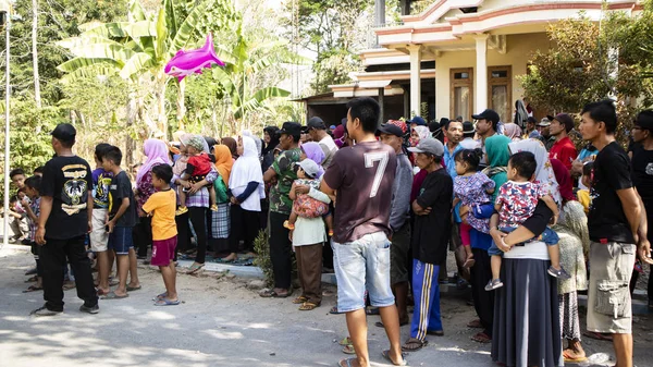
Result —
[[[276,157],[272,169],[276,172],[276,184],[270,188],[270,211],[289,215],[293,200],[288,197],[293,181],[297,180],[295,164],[299,161],[301,149],[283,151]]]

